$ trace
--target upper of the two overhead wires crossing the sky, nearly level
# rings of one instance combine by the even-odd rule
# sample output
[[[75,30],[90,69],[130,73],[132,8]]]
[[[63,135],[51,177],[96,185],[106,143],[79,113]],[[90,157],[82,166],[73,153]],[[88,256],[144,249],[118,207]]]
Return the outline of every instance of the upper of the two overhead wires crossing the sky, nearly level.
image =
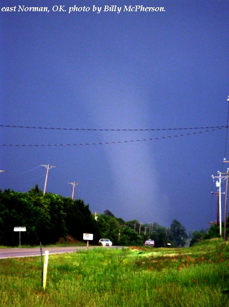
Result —
[[[182,128],[148,128],[148,129],[91,129],[91,128],[62,128],[62,127],[36,127],[36,126],[17,126],[17,125],[1,125],[0,127],[10,128],[27,128],[27,129],[46,129],[46,130],[77,130],[77,131],[168,131],[168,130],[194,130],[194,129],[219,129],[227,128],[226,126],[211,126],[211,127],[182,127]]]

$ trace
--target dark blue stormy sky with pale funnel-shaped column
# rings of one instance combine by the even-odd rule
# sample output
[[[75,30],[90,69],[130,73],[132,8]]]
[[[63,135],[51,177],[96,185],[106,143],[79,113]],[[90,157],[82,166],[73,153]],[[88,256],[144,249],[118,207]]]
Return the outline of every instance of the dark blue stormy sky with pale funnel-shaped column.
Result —
[[[2,125],[153,129],[227,124],[229,1],[2,1]],[[65,5],[66,12],[53,12]],[[71,6],[89,12],[68,13]],[[98,14],[93,5],[101,7]],[[122,10],[104,12],[117,5]],[[124,6],[164,12],[124,12]],[[82,131],[0,127],[5,144],[85,144],[151,139],[199,130]],[[208,130],[208,129],[201,129]],[[71,146],[0,146],[0,188],[26,192],[37,183],[92,212],[125,221],[176,218],[187,230],[216,219],[212,174],[226,170],[226,129],[142,142]],[[225,152],[226,147],[226,152]],[[38,167],[39,166],[39,167]],[[224,202],[224,199],[222,200]],[[223,210],[223,209],[222,209]]]

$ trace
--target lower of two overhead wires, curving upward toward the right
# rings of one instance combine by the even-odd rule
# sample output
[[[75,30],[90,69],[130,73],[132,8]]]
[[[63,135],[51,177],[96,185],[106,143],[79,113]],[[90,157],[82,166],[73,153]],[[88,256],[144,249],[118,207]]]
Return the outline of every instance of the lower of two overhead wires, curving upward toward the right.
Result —
[[[173,135],[173,136],[165,136],[165,137],[156,137],[156,138],[150,138],[150,139],[140,139],[140,140],[127,140],[127,141],[111,141],[111,142],[98,142],[98,143],[76,143],[76,144],[0,144],[0,146],[5,147],[58,147],[58,146],[85,146],[85,145],[105,145],[105,144],[121,144],[121,143],[133,143],[133,142],[144,142],[144,141],[153,141],[153,140],[162,140],[162,139],[169,139],[169,138],[177,138],[177,137],[184,137],[184,136],[190,136],[190,135],[196,135],[201,133],[207,133],[210,131],[216,131],[225,129],[227,126],[221,126],[216,127],[209,130],[203,130],[203,131],[195,131],[192,133],[187,134],[181,134],[181,135]]]

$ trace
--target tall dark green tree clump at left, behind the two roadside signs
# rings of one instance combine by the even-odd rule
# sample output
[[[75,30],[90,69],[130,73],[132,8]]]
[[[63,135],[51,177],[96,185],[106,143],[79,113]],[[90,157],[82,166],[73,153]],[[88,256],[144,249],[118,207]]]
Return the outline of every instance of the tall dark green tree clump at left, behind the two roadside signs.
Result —
[[[30,245],[55,243],[67,234],[80,240],[83,232],[94,233],[95,239],[99,236],[89,206],[82,200],[72,201],[52,193],[43,197],[38,186],[28,193],[0,190],[1,245],[18,244],[18,232],[13,231],[18,226],[26,227],[21,242]]]

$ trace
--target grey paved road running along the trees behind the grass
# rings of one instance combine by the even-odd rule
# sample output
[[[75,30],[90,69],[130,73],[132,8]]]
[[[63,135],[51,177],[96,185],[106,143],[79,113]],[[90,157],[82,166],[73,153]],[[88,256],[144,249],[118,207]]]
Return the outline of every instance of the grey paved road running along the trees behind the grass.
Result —
[[[89,246],[89,249],[93,249],[93,246]],[[49,251],[51,254],[65,254],[75,253],[78,250],[87,249],[86,246],[77,247],[42,247],[42,254],[45,251]],[[0,249],[0,259],[4,258],[19,258],[19,257],[32,257],[40,256],[40,248],[4,248]]]

